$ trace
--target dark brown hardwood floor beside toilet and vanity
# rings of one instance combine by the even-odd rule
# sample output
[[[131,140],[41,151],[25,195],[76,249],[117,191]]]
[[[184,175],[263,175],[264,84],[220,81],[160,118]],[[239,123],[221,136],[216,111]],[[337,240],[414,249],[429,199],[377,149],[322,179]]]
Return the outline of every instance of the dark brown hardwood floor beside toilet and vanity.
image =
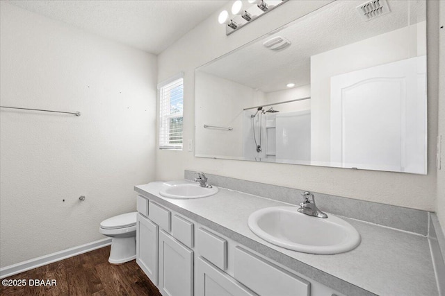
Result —
[[[13,275],[6,279],[24,279],[26,286],[0,286],[0,295],[149,295],[161,296],[159,290],[140,270],[135,260],[108,263],[110,247],[102,247],[63,261]],[[35,286],[35,279],[56,286]],[[4,279],[3,279],[4,280]],[[30,281],[31,280],[31,281]],[[49,280],[49,282],[47,281]],[[34,286],[29,286],[34,284]]]

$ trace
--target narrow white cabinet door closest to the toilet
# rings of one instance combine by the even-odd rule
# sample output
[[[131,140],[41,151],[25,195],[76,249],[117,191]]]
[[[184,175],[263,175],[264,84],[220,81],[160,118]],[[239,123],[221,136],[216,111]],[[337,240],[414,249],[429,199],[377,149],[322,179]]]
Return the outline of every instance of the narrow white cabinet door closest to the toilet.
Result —
[[[136,263],[153,284],[158,284],[158,225],[141,214],[136,219]]]

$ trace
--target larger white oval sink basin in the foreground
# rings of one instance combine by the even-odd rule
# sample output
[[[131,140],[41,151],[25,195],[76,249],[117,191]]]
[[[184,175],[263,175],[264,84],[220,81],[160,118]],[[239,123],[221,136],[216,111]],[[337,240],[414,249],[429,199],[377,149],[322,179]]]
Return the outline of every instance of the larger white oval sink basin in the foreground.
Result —
[[[302,214],[298,207],[269,207],[248,218],[250,230],[265,241],[310,254],[337,254],[360,243],[355,228],[336,216],[317,218]]]

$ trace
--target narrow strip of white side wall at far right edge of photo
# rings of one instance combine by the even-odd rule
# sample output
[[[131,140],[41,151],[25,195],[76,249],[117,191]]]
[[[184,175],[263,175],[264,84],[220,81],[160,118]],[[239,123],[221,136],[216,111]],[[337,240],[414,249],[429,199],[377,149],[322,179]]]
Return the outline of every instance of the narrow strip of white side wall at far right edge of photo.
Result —
[[[445,26],[445,1],[440,1],[440,26]],[[442,135],[442,169],[437,171],[437,216],[445,234],[445,28],[439,35],[439,134]]]

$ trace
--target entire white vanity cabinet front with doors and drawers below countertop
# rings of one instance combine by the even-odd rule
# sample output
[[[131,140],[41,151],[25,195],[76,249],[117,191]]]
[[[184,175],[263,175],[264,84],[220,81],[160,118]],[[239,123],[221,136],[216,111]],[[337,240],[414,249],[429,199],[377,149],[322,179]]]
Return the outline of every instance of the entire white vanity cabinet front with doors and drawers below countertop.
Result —
[[[165,296],[342,296],[138,196],[136,262]],[[143,214],[141,214],[143,212]]]

